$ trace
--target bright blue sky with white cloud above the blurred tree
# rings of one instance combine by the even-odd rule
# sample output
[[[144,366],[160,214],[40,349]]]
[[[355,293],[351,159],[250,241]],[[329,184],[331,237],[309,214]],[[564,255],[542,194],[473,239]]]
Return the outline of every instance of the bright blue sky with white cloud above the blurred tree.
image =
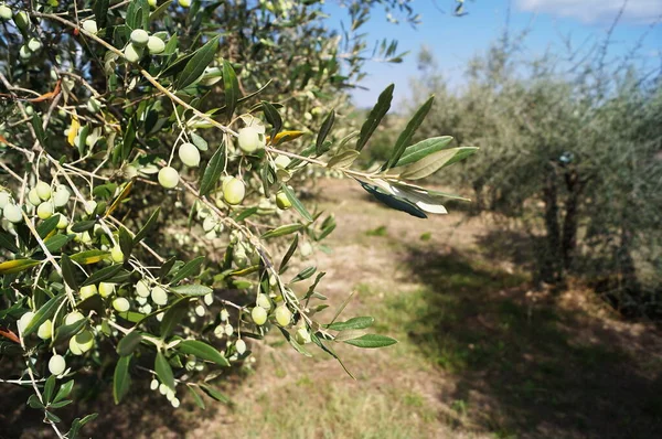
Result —
[[[602,41],[623,0],[467,0],[463,17],[453,17],[453,0],[414,0],[412,7],[421,15],[416,28],[392,24],[381,9],[362,30],[370,41],[397,39],[398,52],[410,51],[403,63],[369,62],[367,77],[360,84],[369,89],[355,90],[352,96],[359,107],[372,107],[380,93],[395,83],[396,105],[410,98],[409,82],[417,75],[416,54],[421,45],[434,53],[437,64],[452,87],[461,87],[467,61],[483,53],[505,29],[510,8],[509,30],[516,34],[524,29],[530,33],[522,56],[534,58],[549,47],[563,47],[563,38],[569,35],[575,46]],[[328,1],[325,12],[330,24],[339,28],[346,10],[335,1]],[[662,57],[662,0],[629,0],[618,25],[612,32],[610,54],[618,56],[637,46],[642,35],[639,62],[647,66],[660,64]],[[563,35],[563,38],[562,38]]]

